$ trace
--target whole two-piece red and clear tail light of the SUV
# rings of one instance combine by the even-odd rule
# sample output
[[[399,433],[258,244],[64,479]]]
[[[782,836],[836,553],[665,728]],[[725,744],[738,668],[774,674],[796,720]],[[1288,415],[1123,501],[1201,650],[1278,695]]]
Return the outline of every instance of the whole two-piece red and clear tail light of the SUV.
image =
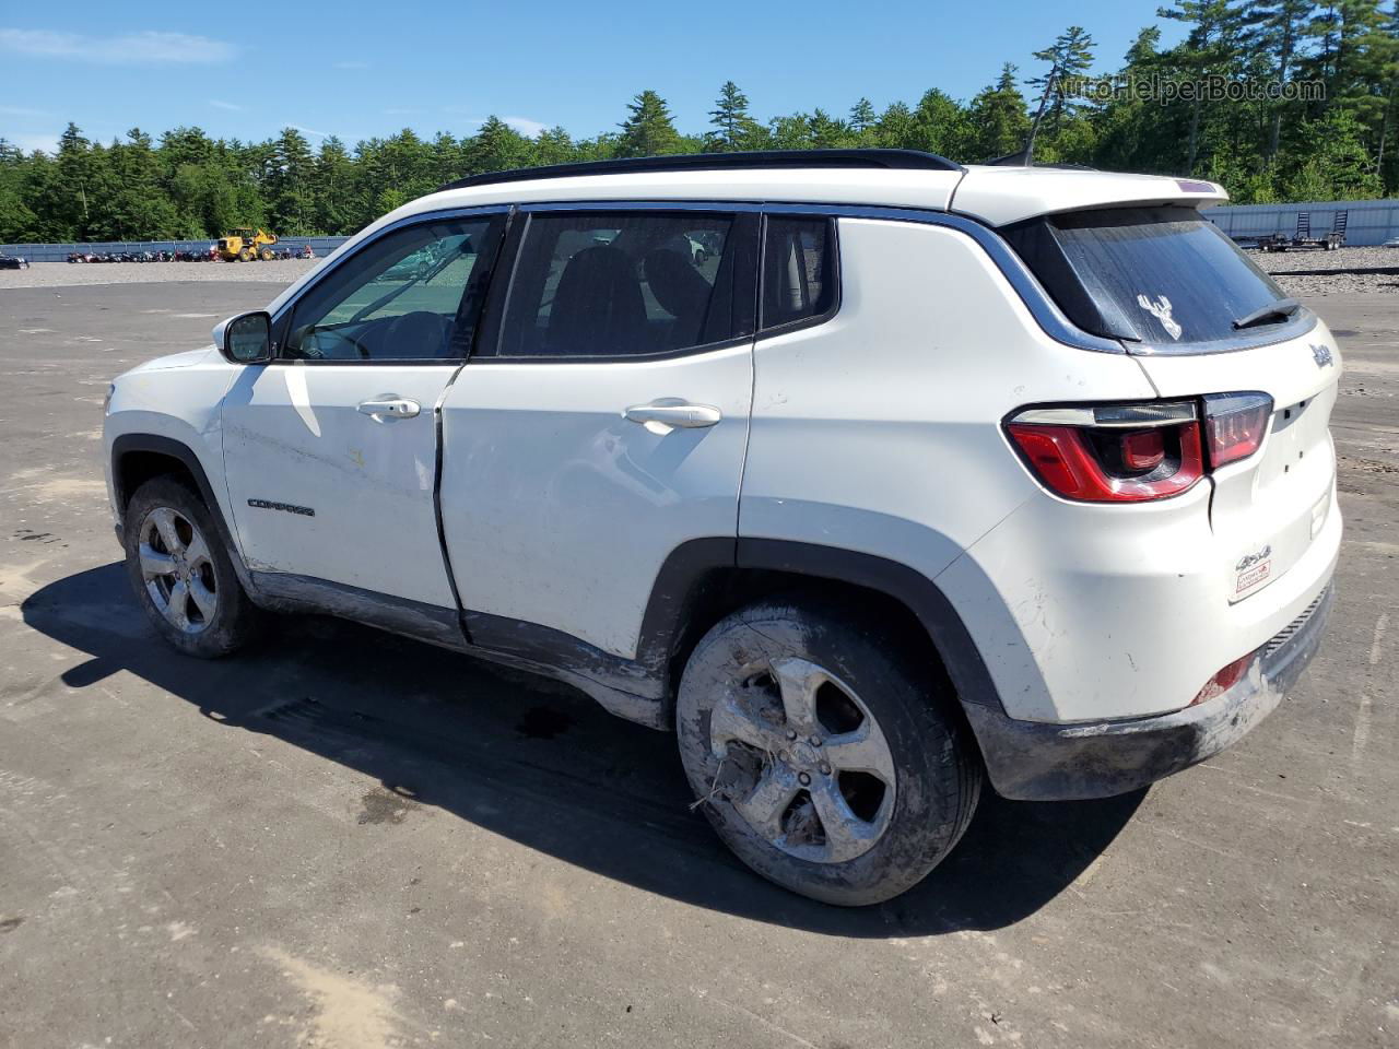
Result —
[[[1006,422],[1006,432],[1055,495],[1149,502],[1179,495],[1207,470],[1254,455],[1272,413],[1266,393],[1213,393],[1199,403],[1025,408]]]

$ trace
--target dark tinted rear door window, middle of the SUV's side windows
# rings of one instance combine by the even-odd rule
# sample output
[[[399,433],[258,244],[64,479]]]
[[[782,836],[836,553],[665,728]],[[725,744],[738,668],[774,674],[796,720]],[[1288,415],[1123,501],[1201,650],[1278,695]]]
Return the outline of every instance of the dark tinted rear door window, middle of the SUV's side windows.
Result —
[[[734,227],[705,213],[530,215],[499,354],[631,357],[748,334]]]

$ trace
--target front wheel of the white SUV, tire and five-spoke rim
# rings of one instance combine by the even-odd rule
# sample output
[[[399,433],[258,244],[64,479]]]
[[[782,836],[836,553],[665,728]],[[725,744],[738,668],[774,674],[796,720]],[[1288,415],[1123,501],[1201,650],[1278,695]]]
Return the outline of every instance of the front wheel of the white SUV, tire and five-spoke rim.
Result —
[[[253,639],[257,608],[193,490],[172,477],[147,481],[126,506],[122,536],[136,600],[169,645],[217,659]]]

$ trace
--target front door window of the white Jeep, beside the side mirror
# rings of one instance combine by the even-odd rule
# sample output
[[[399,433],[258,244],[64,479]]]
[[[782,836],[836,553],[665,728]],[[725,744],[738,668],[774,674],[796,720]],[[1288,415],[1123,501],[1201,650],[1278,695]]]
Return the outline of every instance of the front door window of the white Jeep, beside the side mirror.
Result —
[[[499,217],[389,234],[343,262],[292,311],[283,357],[443,359],[470,347]]]

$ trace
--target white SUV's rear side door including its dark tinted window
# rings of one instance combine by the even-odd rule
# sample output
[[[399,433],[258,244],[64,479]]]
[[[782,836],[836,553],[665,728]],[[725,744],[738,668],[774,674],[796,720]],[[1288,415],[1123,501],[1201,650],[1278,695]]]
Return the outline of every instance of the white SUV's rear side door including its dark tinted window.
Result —
[[[522,218],[494,337],[443,403],[448,552],[474,642],[529,648],[534,624],[632,657],[672,551],[736,534],[757,214]]]

